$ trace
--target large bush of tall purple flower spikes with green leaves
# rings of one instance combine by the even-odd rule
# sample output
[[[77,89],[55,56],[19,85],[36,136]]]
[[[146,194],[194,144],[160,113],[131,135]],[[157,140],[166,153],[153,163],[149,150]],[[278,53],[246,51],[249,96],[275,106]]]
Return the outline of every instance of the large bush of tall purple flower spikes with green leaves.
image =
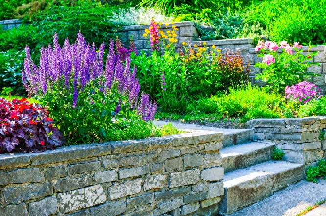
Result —
[[[117,53],[110,41],[105,67],[104,43],[96,50],[94,44],[86,43],[80,32],[74,44],[70,45],[66,39],[63,47],[54,34],[53,47],[41,48],[39,67],[32,61],[26,46],[23,84],[30,95],[48,104],[59,128],[69,128],[70,136],[82,130],[89,133],[96,127],[105,136],[106,130],[116,126],[113,118],[126,119],[131,113],[139,114],[146,121],[153,119],[156,103],[138,102],[140,84],[136,68],[130,68],[129,57],[134,48],[124,48],[119,40],[116,45]],[[69,121],[75,128],[68,125]],[[92,126],[94,128],[85,129]]]

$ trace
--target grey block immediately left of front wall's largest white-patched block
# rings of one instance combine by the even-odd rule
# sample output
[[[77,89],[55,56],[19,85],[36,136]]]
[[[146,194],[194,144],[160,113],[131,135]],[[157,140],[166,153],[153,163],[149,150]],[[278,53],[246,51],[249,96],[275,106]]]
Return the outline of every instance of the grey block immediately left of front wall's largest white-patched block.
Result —
[[[28,212],[30,216],[48,216],[56,213],[57,208],[57,199],[54,196],[50,196],[36,202],[30,202]]]

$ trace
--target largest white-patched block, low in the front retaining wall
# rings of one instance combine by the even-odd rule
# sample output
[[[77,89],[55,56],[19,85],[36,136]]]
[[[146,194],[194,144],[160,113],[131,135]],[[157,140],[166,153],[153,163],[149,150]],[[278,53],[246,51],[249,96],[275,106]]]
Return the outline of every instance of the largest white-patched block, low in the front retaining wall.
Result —
[[[101,185],[57,194],[60,211],[68,213],[78,209],[91,207],[106,201],[106,195]]]

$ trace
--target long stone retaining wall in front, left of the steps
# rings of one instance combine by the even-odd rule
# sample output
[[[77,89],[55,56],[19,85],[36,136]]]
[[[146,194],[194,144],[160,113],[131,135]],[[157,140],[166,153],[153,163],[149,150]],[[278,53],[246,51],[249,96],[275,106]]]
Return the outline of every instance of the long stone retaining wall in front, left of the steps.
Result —
[[[223,134],[0,155],[1,216],[216,215]]]

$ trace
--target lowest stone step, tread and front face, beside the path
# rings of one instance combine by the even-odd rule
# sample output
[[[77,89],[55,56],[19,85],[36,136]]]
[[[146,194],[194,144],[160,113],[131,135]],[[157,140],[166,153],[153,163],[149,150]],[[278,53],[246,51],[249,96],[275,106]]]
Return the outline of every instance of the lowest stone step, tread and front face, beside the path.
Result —
[[[224,197],[220,214],[232,213],[260,201],[304,178],[304,164],[266,161],[224,175]]]

